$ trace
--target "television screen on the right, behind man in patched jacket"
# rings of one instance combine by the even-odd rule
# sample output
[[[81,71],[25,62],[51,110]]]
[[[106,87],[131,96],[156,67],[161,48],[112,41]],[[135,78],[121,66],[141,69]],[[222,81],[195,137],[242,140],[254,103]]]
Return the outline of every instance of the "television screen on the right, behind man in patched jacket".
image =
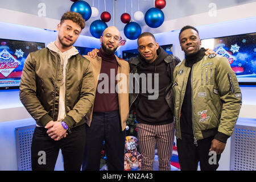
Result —
[[[240,84],[256,84],[256,33],[203,39],[202,47],[226,57]]]

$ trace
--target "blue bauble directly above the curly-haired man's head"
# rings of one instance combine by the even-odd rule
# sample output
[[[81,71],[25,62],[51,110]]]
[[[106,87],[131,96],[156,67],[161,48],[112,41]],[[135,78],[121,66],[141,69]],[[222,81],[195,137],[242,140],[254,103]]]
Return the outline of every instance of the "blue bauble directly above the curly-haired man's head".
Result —
[[[87,21],[92,15],[92,8],[85,1],[74,2],[70,9],[72,12],[76,12],[82,15],[82,18]]]

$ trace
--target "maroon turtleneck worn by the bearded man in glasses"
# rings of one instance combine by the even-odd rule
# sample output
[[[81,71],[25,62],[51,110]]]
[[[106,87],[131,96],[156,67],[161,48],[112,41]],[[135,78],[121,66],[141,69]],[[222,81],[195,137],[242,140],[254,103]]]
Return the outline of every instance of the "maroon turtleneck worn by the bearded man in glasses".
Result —
[[[102,80],[98,81],[98,84],[100,82],[104,81],[105,83],[108,82],[109,84],[109,89],[107,93],[99,93],[98,92],[98,85],[96,89],[96,96],[94,100],[94,112],[100,112],[104,113],[106,111],[114,111],[119,109],[119,104],[118,104],[118,94],[115,91],[115,85],[117,85],[117,80],[115,80],[115,76],[117,76],[117,68],[118,68],[118,63],[117,59],[115,59],[115,55],[108,55],[106,54],[102,48],[100,48],[100,52],[98,52],[98,56],[101,57],[101,72],[100,73],[105,73],[108,75],[109,79],[104,81],[104,78]],[[114,70],[114,75],[110,75],[110,70]],[[114,85],[113,85],[114,82]],[[111,90],[110,87],[114,88]],[[104,89],[104,86],[100,86],[100,88]]]

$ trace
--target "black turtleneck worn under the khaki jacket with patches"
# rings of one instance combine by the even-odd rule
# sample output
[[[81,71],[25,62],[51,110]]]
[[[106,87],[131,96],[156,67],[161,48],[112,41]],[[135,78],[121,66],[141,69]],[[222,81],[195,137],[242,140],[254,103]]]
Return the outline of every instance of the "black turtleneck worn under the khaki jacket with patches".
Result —
[[[193,55],[185,57],[185,66],[191,68],[188,76],[188,82],[186,87],[186,92],[181,107],[181,117],[180,117],[180,129],[181,133],[186,133],[193,135],[192,129],[192,93],[191,93],[191,70],[195,63],[203,59],[205,55],[205,49],[201,48],[198,52]]]

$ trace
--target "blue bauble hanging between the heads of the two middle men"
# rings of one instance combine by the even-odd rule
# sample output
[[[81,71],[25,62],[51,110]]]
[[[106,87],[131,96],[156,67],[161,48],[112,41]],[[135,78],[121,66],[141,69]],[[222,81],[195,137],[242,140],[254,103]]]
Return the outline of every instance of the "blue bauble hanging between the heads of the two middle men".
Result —
[[[141,26],[136,22],[130,22],[123,28],[123,32],[127,39],[135,40],[141,35]]]

